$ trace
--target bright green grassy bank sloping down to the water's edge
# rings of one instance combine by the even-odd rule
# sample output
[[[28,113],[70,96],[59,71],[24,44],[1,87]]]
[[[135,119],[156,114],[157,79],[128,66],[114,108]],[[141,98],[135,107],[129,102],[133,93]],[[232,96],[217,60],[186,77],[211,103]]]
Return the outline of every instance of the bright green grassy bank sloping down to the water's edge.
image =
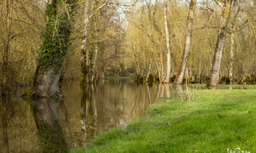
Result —
[[[255,129],[255,89],[198,90],[191,102],[161,99],[126,129],[71,152],[255,152]]]

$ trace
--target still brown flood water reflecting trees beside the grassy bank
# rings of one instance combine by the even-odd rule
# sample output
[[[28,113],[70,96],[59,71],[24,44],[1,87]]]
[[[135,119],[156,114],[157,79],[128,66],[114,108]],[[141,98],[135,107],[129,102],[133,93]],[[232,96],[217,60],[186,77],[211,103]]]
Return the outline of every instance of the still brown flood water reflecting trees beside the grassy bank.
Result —
[[[178,97],[172,84],[137,84],[129,79],[81,88],[63,82],[63,99],[1,99],[0,152],[68,152],[100,133],[125,128],[163,97]],[[25,88],[17,90],[21,95]]]

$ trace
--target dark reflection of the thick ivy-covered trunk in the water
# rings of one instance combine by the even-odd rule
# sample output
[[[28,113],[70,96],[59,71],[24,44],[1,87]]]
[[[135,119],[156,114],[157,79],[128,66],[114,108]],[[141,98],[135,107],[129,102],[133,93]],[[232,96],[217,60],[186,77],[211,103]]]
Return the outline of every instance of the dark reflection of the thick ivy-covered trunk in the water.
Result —
[[[27,101],[34,116],[41,151],[45,153],[68,152],[58,111],[63,100],[30,99]]]

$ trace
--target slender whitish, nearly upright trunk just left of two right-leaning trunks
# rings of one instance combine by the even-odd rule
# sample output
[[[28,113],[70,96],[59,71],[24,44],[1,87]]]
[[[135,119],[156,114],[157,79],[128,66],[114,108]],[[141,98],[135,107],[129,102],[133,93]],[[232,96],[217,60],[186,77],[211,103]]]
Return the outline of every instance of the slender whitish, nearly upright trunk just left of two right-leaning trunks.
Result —
[[[167,48],[167,72],[165,77],[165,83],[170,82],[170,38],[169,38],[169,29],[167,23],[167,0],[165,0],[165,8],[163,14],[165,16],[165,37],[166,37],[166,48]]]

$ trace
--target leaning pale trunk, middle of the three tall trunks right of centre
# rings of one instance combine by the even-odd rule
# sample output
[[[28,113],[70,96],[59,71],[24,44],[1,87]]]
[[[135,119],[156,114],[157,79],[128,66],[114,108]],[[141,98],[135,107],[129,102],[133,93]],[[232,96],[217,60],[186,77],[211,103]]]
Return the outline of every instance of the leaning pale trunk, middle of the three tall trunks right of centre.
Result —
[[[187,34],[185,38],[185,46],[183,50],[182,62],[180,63],[179,72],[175,79],[176,84],[182,84],[183,77],[187,68],[187,62],[189,61],[191,38],[192,38],[192,28],[193,28],[193,18],[195,12],[195,5],[197,0],[191,0],[189,6],[189,14],[187,14]]]

